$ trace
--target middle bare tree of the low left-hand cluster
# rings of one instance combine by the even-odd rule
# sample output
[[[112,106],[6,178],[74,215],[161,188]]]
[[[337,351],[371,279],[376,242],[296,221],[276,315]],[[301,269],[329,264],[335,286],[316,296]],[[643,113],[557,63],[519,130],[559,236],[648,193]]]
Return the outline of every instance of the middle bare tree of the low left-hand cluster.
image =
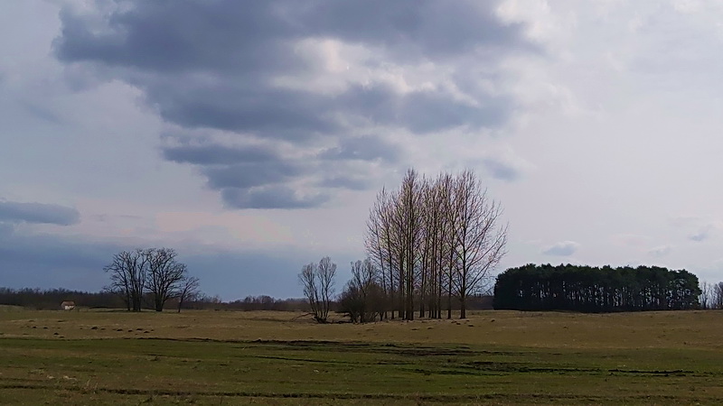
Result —
[[[165,302],[172,299],[188,273],[186,265],[176,261],[172,248],[149,248],[144,251],[148,263],[146,289],[153,297],[155,311],[163,311]]]

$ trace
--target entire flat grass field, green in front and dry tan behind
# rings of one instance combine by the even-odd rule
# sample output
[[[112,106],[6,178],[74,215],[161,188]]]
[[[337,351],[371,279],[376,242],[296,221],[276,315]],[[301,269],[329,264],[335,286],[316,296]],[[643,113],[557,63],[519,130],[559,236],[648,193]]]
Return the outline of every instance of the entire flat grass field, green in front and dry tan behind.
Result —
[[[721,311],[298,316],[0,308],[0,404],[723,402]]]

